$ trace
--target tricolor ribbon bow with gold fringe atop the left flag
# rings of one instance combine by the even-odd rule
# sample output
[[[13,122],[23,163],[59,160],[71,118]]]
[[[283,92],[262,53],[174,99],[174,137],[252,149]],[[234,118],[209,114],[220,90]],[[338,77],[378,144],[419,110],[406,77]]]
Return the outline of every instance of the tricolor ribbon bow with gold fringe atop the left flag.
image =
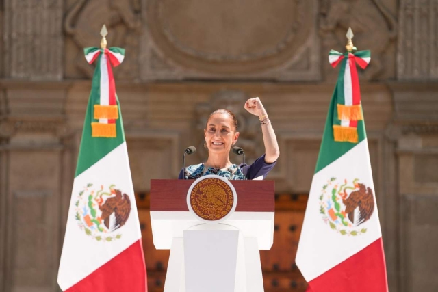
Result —
[[[89,64],[97,60],[89,101],[89,105],[92,105],[94,119],[91,123],[92,137],[116,137],[119,109],[112,66],[116,67],[123,62],[125,49],[88,47],[83,51]]]

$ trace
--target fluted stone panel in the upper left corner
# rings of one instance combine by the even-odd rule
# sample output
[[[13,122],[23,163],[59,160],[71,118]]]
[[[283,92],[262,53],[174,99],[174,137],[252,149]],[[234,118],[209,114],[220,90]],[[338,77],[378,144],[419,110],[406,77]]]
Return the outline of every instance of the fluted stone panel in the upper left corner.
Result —
[[[5,0],[5,75],[62,79],[62,0]]]

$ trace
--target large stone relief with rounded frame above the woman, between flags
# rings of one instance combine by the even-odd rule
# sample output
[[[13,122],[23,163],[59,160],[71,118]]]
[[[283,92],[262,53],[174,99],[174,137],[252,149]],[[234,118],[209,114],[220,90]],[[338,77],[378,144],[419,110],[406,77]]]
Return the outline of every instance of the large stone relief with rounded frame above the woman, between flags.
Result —
[[[315,0],[144,3],[144,80],[320,78]]]

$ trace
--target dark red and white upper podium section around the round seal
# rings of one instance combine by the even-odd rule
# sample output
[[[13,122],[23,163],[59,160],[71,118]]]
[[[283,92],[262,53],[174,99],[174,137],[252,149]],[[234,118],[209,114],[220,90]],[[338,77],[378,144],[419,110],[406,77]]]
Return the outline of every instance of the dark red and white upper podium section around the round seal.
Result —
[[[188,210],[186,197],[193,180],[151,180],[151,223],[157,249],[170,249],[183,230],[203,224]],[[235,212],[221,224],[235,226],[244,237],[256,237],[269,250],[274,234],[274,181],[230,181],[237,192]]]

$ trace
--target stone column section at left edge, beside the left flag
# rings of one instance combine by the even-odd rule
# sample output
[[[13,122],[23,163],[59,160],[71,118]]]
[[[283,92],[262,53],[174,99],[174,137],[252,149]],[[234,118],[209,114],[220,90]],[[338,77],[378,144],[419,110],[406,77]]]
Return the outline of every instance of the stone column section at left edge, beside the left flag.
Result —
[[[62,202],[73,177],[64,143],[68,84],[1,85],[8,107],[0,120],[0,290],[58,291]]]

